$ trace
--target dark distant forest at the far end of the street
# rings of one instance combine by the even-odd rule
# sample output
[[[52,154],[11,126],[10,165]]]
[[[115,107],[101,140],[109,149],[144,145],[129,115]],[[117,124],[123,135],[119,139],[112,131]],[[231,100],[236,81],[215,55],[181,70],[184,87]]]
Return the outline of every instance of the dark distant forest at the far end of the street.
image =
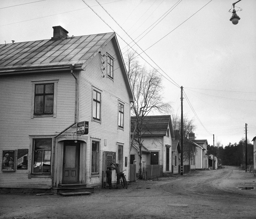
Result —
[[[215,156],[221,159],[222,165],[227,166],[240,166],[245,165],[245,151],[246,144],[245,139],[239,141],[239,143],[231,144],[223,147],[214,147]],[[207,146],[208,153],[213,154],[213,145]],[[247,165],[253,164],[253,144],[247,141]]]

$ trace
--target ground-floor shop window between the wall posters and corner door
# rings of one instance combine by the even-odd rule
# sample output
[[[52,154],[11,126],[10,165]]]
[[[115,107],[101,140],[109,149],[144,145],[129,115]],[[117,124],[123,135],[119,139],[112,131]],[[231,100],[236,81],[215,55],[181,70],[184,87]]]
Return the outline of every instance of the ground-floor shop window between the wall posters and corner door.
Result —
[[[51,173],[52,138],[34,138],[32,153],[32,174]]]

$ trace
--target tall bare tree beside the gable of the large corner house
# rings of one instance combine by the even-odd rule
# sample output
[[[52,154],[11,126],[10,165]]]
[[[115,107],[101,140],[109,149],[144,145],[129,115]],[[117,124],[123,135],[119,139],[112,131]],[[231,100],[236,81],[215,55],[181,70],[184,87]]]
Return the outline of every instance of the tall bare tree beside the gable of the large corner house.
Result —
[[[134,132],[131,140],[130,150],[135,140],[139,146],[139,176],[142,175],[142,129],[143,119],[150,112],[166,112],[170,110],[170,104],[163,102],[162,78],[155,69],[147,70],[141,67],[135,58],[135,54],[129,52],[126,58],[128,75],[131,82],[135,102],[131,104],[131,114],[136,117],[134,121]],[[136,139],[135,139],[136,136]]]

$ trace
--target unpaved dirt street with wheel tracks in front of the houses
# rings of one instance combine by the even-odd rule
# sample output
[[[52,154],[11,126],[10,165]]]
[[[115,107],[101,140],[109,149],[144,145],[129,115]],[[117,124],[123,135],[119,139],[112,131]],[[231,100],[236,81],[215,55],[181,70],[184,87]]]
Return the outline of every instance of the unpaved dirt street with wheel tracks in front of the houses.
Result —
[[[86,196],[0,195],[0,219],[16,218],[256,218],[252,173],[236,167],[195,171],[128,189],[100,189]]]

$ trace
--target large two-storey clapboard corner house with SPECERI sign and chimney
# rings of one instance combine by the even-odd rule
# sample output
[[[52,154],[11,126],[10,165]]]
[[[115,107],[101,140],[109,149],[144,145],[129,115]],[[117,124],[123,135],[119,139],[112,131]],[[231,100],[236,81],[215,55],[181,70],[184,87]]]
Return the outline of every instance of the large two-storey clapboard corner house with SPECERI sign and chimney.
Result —
[[[101,186],[112,162],[128,179],[134,96],[116,35],[53,29],[0,45],[0,187]]]

